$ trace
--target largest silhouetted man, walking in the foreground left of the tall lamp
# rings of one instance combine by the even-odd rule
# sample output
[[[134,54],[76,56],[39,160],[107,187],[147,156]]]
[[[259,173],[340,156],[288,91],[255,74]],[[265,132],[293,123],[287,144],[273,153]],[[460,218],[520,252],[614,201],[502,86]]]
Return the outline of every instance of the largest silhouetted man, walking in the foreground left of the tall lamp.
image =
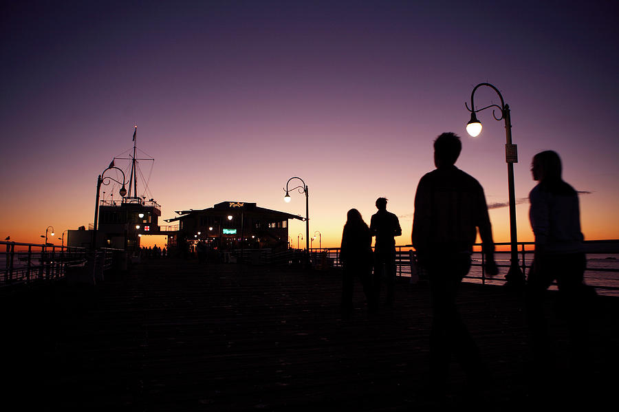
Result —
[[[486,369],[479,350],[461,319],[456,296],[470,269],[477,229],[486,257],[486,273],[497,274],[495,246],[484,189],[474,177],[457,169],[459,136],[442,133],[434,141],[436,169],[417,185],[412,244],[419,264],[427,271],[432,302],[430,390],[446,390],[450,355],[454,354],[468,378],[483,385]]]

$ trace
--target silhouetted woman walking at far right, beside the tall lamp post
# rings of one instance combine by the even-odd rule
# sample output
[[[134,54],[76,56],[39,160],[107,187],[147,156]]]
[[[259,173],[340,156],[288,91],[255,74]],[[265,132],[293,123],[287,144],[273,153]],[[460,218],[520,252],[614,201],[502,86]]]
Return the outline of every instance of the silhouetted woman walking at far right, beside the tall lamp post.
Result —
[[[572,367],[583,366],[587,298],[594,294],[583,283],[585,253],[580,232],[578,193],[561,178],[561,158],[554,151],[533,157],[529,218],[535,235],[535,254],[528,276],[528,321],[537,367],[552,362],[543,313],[543,297],[552,281],[558,285],[558,309],[564,312],[571,338]]]

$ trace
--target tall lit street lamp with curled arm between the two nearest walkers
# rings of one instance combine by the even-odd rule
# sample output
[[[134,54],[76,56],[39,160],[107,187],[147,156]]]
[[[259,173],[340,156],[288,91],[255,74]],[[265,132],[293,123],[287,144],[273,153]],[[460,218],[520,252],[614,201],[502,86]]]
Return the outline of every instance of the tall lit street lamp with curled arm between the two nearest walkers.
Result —
[[[497,92],[499,98],[501,99],[501,106],[499,105],[488,105],[486,107],[482,107],[481,109],[475,109],[475,103],[473,102],[473,97],[475,95],[475,91],[481,86],[490,87],[490,89]],[[506,133],[506,145],[505,145],[505,161],[508,164],[508,188],[509,188],[509,196],[510,196],[510,243],[511,243],[511,259],[510,259],[510,270],[508,270],[508,274],[506,274],[505,279],[507,280],[507,285],[523,285],[525,279],[520,266],[518,265],[518,239],[517,239],[517,230],[516,230],[516,197],[514,195],[514,163],[518,163],[518,151],[517,145],[512,144],[512,122],[510,118],[510,106],[505,104],[503,100],[503,96],[501,96],[501,92],[497,87],[490,85],[490,83],[479,83],[479,85],[473,88],[473,91],[470,94],[470,107],[464,103],[464,106],[468,111],[470,111],[470,120],[466,124],[466,131],[469,135],[475,138],[479,133],[481,133],[481,122],[477,120],[477,116],[475,113],[479,113],[479,111],[489,109],[492,107],[492,116],[494,116],[495,120],[505,120],[505,133]],[[495,113],[495,109],[500,111],[500,116],[497,116]]]

